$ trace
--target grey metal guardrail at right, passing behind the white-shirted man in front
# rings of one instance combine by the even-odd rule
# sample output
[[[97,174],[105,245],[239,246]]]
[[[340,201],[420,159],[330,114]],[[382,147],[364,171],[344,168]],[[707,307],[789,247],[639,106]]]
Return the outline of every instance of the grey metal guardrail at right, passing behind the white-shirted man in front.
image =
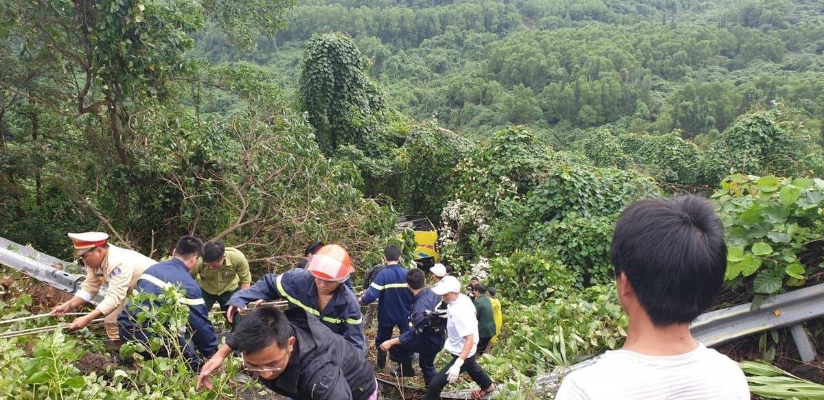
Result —
[[[714,347],[771,329],[790,327],[801,359],[808,362],[817,357],[802,323],[824,316],[824,283],[775,295],[764,300],[758,309],[751,307],[752,304],[747,303],[701,314],[691,324],[692,336],[705,346]],[[592,365],[599,357],[537,377],[534,393],[539,397],[555,393],[566,374]]]

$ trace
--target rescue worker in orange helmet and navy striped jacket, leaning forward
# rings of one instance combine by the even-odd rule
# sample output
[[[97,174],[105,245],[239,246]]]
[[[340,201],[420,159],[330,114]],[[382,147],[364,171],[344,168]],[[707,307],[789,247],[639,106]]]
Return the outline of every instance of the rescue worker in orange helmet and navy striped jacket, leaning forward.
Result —
[[[358,299],[341,283],[351,273],[349,253],[337,244],[327,244],[312,256],[306,269],[265,275],[249,289],[232,295],[227,319],[232,323],[237,310],[245,309],[252,301],[284,299],[290,307],[305,309],[321,319],[332,332],[363,352],[366,339]]]

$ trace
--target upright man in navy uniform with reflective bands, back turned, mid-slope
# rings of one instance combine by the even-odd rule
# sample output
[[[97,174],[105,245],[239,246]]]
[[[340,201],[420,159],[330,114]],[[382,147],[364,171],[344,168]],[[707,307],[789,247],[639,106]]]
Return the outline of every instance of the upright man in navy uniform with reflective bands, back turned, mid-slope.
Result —
[[[398,327],[400,333],[409,330],[412,308],[412,292],[406,287],[406,269],[400,265],[400,249],[392,245],[386,246],[383,260],[386,267],[377,274],[360,299],[362,305],[378,300],[375,336],[378,370],[386,366],[386,351],[381,350],[381,343],[391,339],[395,327]]]

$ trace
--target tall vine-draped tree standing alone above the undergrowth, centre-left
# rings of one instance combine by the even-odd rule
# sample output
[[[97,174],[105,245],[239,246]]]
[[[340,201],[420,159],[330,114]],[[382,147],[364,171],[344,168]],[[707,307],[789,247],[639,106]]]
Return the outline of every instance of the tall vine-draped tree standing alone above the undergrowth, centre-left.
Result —
[[[383,100],[364,69],[368,60],[348,36],[317,34],[307,44],[301,73],[301,100],[317,142],[327,156],[353,144],[368,156],[380,153],[377,131]]]

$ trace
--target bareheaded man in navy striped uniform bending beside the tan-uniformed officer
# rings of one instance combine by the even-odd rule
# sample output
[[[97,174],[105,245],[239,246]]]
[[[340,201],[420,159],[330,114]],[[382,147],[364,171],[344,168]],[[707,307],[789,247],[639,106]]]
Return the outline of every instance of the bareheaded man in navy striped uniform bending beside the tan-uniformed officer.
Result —
[[[204,244],[198,238],[183,236],[177,241],[171,259],[149,267],[143,272],[136,287],[138,291],[152,295],[162,295],[172,286],[180,286],[180,290],[185,291],[185,295],[177,300],[189,306],[189,319],[187,328],[178,337],[178,344],[194,371],[198,370],[200,360],[190,341],[194,342],[194,348],[204,357],[211,357],[218,350],[218,337],[215,336],[212,323],[209,322],[208,309],[201,297],[200,286],[189,273],[198,262],[203,249]],[[140,342],[149,348],[149,339],[153,336],[152,324],[158,321],[147,320],[138,323],[138,314],[147,309],[157,308],[161,301],[166,300],[145,300],[140,304],[129,302],[117,319],[120,336],[126,341]],[[168,343],[160,347],[154,356],[175,356],[169,354],[169,347]]]

